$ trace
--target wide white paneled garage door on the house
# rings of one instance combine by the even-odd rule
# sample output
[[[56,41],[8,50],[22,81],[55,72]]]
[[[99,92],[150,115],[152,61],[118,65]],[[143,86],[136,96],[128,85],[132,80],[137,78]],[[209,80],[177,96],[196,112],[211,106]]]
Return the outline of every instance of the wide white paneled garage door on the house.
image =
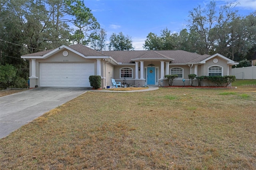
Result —
[[[40,63],[41,87],[91,87],[94,63]]]

